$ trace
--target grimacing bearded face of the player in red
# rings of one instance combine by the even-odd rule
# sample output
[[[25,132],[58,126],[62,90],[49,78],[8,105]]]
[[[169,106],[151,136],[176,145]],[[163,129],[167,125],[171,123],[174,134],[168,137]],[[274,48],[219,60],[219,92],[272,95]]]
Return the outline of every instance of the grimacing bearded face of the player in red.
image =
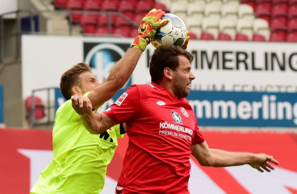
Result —
[[[195,79],[191,72],[191,64],[185,56],[178,56],[179,66],[173,73],[172,85],[173,93],[177,98],[183,98],[190,93],[190,83]]]

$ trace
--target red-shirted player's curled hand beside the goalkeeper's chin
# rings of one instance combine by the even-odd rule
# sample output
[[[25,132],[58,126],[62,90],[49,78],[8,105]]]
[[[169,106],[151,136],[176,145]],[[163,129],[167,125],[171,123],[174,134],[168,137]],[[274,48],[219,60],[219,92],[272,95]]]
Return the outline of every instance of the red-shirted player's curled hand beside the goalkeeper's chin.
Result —
[[[80,116],[88,116],[93,113],[92,103],[88,97],[75,94],[71,96],[71,101],[74,111]]]

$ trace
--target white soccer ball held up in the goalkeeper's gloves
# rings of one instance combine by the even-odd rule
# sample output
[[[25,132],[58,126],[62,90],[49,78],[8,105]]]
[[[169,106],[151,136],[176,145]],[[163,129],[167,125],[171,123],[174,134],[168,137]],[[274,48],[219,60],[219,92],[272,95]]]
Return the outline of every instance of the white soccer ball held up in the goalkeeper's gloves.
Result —
[[[165,13],[161,17],[161,20],[163,19],[169,19],[169,22],[157,29],[152,45],[155,48],[161,45],[183,46],[187,37],[187,29],[183,20],[172,13]]]

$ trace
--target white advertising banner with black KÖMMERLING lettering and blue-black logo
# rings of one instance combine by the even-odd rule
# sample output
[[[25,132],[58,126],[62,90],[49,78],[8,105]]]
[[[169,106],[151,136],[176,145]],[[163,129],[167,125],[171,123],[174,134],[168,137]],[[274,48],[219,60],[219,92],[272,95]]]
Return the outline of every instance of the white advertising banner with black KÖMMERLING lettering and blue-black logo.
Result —
[[[32,90],[58,87],[60,76],[85,61],[99,81],[131,45],[132,38],[82,36],[22,36],[23,98]],[[297,44],[275,42],[190,40],[193,90],[297,91]],[[149,60],[154,48],[142,54],[129,84],[150,82]]]

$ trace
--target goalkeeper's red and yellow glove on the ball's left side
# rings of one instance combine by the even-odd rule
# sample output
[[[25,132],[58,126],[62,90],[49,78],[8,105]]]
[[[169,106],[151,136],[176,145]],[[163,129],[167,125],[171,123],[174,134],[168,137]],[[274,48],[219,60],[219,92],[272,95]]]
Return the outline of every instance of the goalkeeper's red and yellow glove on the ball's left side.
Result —
[[[165,12],[161,9],[152,9],[142,18],[138,28],[138,36],[132,44],[133,47],[140,49],[142,52],[145,50],[146,46],[149,45],[154,38],[156,30],[168,23],[168,19],[160,21],[160,18],[164,14]]]

